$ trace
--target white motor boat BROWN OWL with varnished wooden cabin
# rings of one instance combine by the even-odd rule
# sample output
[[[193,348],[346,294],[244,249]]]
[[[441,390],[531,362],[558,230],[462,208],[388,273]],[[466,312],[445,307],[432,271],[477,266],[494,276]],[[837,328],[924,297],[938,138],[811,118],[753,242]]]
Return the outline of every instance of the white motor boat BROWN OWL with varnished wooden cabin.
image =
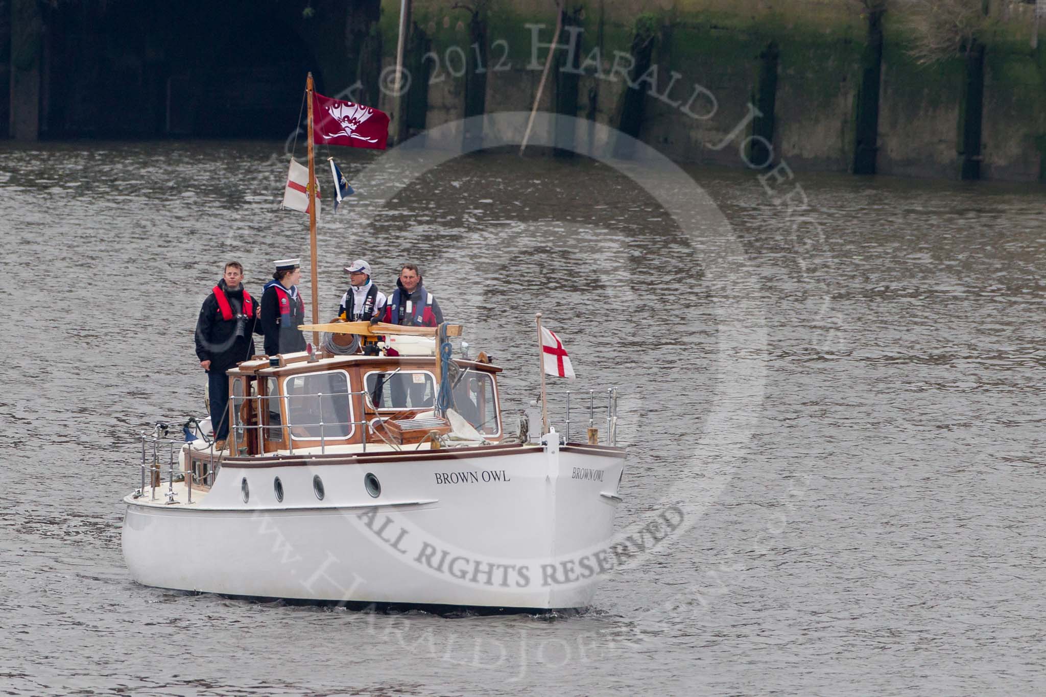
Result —
[[[143,435],[141,487],[123,499],[135,580],[350,606],[588,606],[621,501],[616,394],[601,434],[531,441],[506,433],[501,368],[428,341],[240,364],[223,450]]]

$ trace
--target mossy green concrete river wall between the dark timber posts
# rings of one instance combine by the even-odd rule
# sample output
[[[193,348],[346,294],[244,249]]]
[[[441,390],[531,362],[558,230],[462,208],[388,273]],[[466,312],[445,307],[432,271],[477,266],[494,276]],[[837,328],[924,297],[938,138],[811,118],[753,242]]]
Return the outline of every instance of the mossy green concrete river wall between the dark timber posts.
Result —
[[[1030,7],[994,0],[996,28],[986,38],[983,167],[986,179],[1034,180],[1046,149],[1046,48],[1028,46]],[[463,114],[463,77],[447,70],[448,51],[471,50],[469,13],[442,0],[414,0],[413,19],[432,41],[440,70],[428,86],[428,125]],[[486,110],[528,110],[541,72],[528,69],[531,30],[551,40],[555,14],[529,0],[492,0],[491,61],[504,55],[509,70],[487,76]],[[1003,11],[1005,9],[1005,11]],[[634,89],[646,93],[640,138],[682,162],[744,165],[740,141],[715,149],[748,114],[759,90],[760,54],[777,52],[774,94],[774,161],[793,167],[847,171],[852,166],[857,90],[866,18],[852,0],[658,0],[584,3],[581,61],[598,49],[581,78],[577,116],[617,126],[630,89],[613,73],[615,51],[628,53],[637,26],[656,25],[652,62],[656,74]],[[386,63],[393,60],[399,2],[385,0],[382,29]],[[904,19],[887,15],[880,92],[878,171],[954,179],[961,160],[960,119],[964,62],[920,66],[909,55]],[[1046,44],[1044,36],[1043,44]],[[565,42],[567,36],[561,38]],[[541,49],[543,62],[547,49]],[[673,75],[672,90],[665,93]],[[633,79],[638,75],[632,75]],[[546,85],[542,109],[551,110],[555,82]],[[690,101],[693,95],[697,96]],[[592,107],[594,106],[594,110]],[[689,107],[689,114],[684,107]],[[584,134],[578,134],[584,137]]]

